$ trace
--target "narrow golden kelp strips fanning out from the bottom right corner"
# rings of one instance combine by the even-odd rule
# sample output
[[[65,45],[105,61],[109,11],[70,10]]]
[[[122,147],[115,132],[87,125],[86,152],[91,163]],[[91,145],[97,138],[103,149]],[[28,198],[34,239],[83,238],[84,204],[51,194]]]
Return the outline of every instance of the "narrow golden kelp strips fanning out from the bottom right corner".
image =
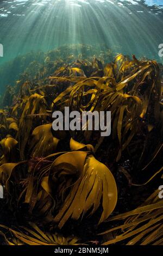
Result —
[[[114,239],[104,242],[103,245],[111,245],[130,238],[127,245],[162,244],[163,203],[158,193],[158,190],[155,191],[142,206],[135,210],[108,219],[108,221],[116,220],[116,222],[123,220],[123,224],[101,234],[105,236],[105,234],[112,233],[114,236],[114,232],[121,230]]]

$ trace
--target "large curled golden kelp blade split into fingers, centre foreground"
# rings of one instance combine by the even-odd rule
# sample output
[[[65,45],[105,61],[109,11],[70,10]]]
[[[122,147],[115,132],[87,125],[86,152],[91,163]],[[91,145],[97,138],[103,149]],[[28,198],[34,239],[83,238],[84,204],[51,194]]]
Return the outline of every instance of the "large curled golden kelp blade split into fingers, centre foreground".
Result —
[[[72,186],[54,221],[59,222],[59,228],[61,228],[70,217],[78,220],[88,211],[92,215],[101,205],[101,200],[103,211],[99,223],[106,220],[117,202],[116,182],[110,170],[95,157],[87,155],[83,151],[67,153],[58,157],[52,168],[63,169],[64,174],[66,164],[70,165],[70,169],[76,169],[76,172],[79,172],[79,178]]]

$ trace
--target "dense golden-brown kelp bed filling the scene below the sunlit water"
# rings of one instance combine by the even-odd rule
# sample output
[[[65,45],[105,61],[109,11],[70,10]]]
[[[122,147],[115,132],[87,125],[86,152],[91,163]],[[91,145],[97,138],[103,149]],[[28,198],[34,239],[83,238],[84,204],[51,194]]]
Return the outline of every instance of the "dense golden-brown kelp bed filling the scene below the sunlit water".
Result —
[[[107,62],[109,51],[86,58],[76,47],[64,60],[59,54],[67,48],[58,51],[42,65],[30,63],[12,87],[12,102],[0,111],[0,182],[8,209],[24,216],[22,231],[1,225],[5,241],[72,245],[78,241],[67,235],[72,225],[82,243],[162,244],[162,66],[134,54]],[[111,111],[111,136],[53,131],[52,113],[67,106],[80,113]],[[126,189],[138,196],[145,191],[143,204],[128,204],[126,212],[119,204],[120,173]],[[78,233],[84,222],[92,229],[87,241]]]

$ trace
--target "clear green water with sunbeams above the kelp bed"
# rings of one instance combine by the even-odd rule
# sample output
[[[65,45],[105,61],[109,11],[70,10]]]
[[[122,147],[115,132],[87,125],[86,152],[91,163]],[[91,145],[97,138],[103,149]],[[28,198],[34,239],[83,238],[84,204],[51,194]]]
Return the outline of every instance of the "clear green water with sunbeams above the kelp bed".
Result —
[[[65,44],[90,44],[98,47],[99,52],[104,48],[115,51],[117,47],[116,52],[134,53],[137,58],[147,56],[161,62],[158,46],[162,42],[163,16],[159,4],[159,1],[117,0],[1,2],[0,43],[4,46],[4,57],[0,58],[0,64]],[[78,54],[82,51],[79,47]],[[27,59],[24,66],[29,63]],[[1,76],[1,94],[22,72],[17,60],[14,69],[10,69],[11,63],[6,65],[8,72],[1,65],[0,72],[9,77]]]

